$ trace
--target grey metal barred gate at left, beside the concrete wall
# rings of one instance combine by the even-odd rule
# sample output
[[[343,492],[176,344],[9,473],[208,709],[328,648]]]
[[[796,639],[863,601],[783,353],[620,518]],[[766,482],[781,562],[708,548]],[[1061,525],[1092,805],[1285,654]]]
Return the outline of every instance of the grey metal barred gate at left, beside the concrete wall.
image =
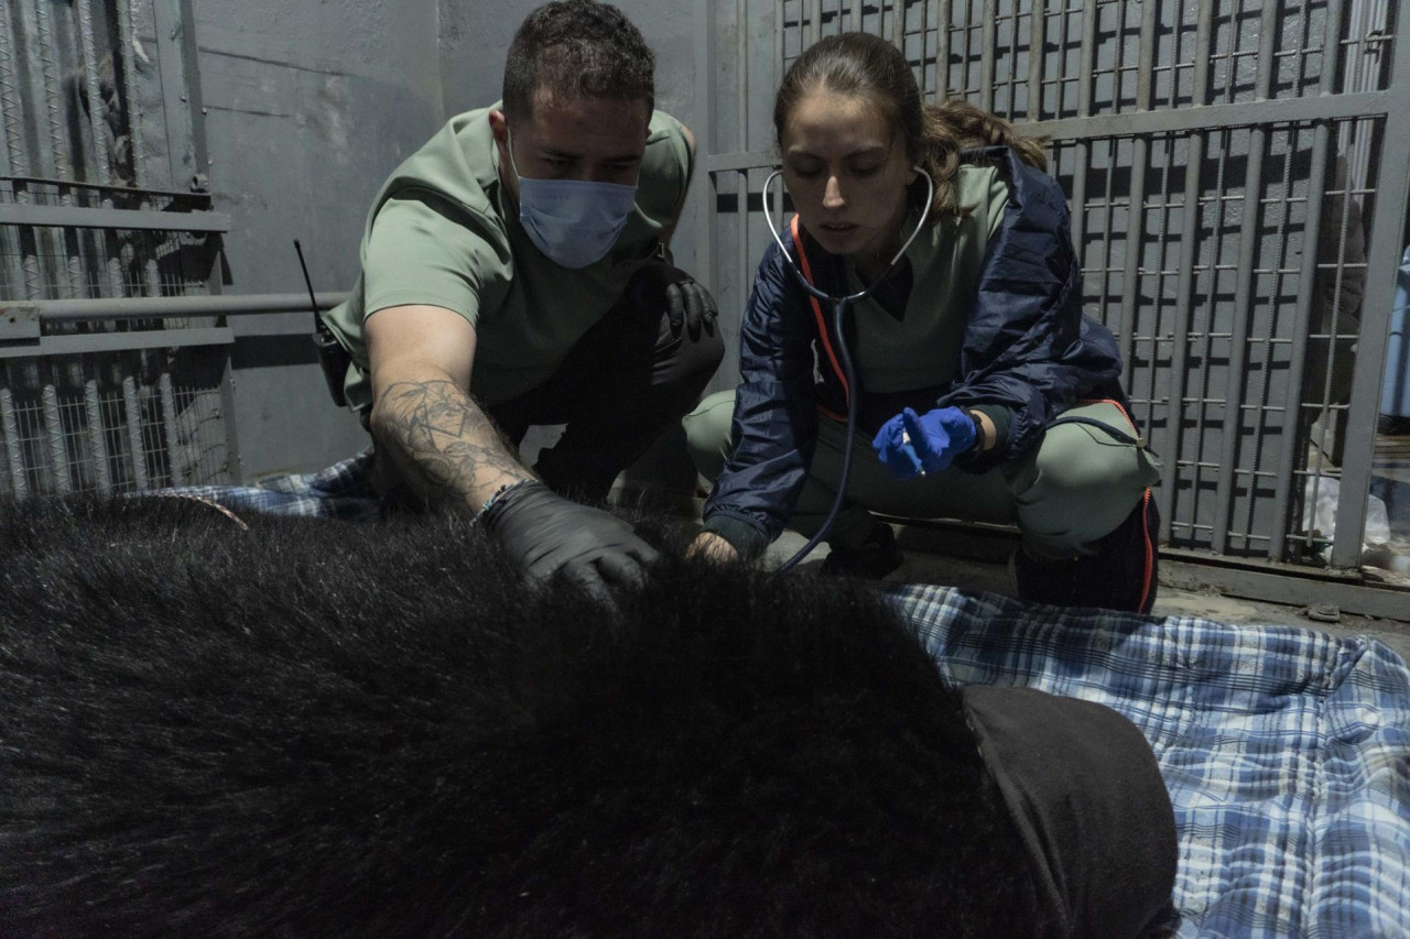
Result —
[[[189,0],[0,0],[0,492],[238,478],[199,107]]]

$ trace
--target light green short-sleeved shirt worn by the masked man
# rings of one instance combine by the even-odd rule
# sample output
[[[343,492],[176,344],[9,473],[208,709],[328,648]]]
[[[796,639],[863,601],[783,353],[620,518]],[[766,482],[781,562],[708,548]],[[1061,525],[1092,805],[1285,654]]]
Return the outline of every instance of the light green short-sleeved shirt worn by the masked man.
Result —
[[[470,392],[481,403],[543,383],[653,257],[691,172],[681,124],[656,111],[626,227],[605,258],[574,271],[544,257],[519,223],[499,182],[489,109],[451,118],[382,185],[362,231],[362,275],[324,314],[352,355],[348,405],[372,405],[364,321],[392,306],[440,306],[475,327]]]

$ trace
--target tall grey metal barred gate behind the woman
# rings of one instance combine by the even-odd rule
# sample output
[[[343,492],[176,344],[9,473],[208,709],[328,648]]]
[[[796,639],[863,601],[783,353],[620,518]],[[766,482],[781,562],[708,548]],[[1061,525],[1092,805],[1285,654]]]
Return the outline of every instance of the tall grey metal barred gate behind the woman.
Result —
[[[1087,310],[1118,336],[1163,460],[1162,540],[1263,570],[1327,554],[1356,568],[1410,175],[1410,55],[1393,55],[1410,23],[1394,13],[1385,0],[701,4],[698,265],[721,309],[742,310],[768,241],[757,193],[777,165],[783,69],[822,35],[887,37],[929,100],[963,97],[1050,140]],[[1303,524],[1328,481],[1331,546]]]

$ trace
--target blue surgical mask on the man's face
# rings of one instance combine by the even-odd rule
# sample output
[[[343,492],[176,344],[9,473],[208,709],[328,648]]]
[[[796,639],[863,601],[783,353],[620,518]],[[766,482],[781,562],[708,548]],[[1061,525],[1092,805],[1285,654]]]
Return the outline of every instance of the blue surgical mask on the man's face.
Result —
[[[585,179],[527,179],[515,164],[509,135],[509,165],[519,178],[519,221],[529,240],[550,261],[585,268],[601,261],[626,227],[636,206],[636,185]]]

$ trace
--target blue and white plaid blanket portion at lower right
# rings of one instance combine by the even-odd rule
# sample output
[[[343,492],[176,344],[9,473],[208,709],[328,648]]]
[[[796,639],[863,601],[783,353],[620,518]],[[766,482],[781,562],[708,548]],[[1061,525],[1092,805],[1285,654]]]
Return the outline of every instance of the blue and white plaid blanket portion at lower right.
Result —
[[[1141,728],[1175,804],[1179,936],[1410,935],[1410,671],[1383,644],[890,596],[957,684],[1096,701]]]

